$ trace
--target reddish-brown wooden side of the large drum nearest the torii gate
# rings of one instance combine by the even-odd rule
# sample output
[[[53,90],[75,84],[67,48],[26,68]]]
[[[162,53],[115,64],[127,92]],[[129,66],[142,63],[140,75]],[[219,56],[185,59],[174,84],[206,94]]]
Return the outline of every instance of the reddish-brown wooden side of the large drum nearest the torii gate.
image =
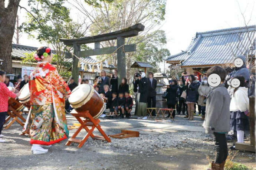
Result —
[[[85,103],[80,108],[76,108],[76,112],[84,112],[86,110],[89,110],[89,113],[92,115],[93,118],[98,115],[98,113],[101,111],[102,107],[104,105],[104,101],[101,99],[101,97],[94,92],[91,99]]]

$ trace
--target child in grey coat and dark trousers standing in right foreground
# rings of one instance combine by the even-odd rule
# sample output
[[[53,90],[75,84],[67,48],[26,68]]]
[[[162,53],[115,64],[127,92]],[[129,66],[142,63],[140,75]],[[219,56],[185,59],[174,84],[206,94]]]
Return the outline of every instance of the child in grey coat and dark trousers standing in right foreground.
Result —
[[[207,71],[207,76],[208,84],[213,88],[206,101],[203,126],[206,133],[213,134],[215,151],[217,152],[216,160],[211,163],[209,170],[223,170],[228,154],[225,133],[230,130],[230,96],[224,84],[226,71],[219,66],[214,66]]]

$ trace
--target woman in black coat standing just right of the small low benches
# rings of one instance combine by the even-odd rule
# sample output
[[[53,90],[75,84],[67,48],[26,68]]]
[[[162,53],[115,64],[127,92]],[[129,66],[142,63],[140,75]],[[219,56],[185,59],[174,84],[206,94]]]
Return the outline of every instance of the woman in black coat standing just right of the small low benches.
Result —
[[[170,80],[169,85],[167,87],[166,92],[167,94],[167,106],[169,109],[175,109],[175,104],[176,104],[176,97],[177,97],[177,90],[178,90],[178,85],[177,85],[177,80]],[[173,118],[175,117],[175,110],[173,110]],[[170,116],[170,113],[168,117]]]

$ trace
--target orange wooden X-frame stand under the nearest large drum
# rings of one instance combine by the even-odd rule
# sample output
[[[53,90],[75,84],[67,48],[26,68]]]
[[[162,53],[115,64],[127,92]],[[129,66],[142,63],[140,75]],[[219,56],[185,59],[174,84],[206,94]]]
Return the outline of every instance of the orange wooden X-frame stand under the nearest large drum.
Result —
[[[89,138],[89,136],[92,137],[93,140],[105,140],[107,142],[111,142],[111,139],[106,135],[106,133],[101,129],[101,125],[99,125],[100,120],[99,119],[93,119],[92,115],[89,113],[88,110],[85,112],[79,112],[79,113],[71,113],[71,115],[75,116],[75,118],[78,120],[78,122],[81,124],[81,126],[76,130],[76,132],[68,139],[68,142],[66,143],[67,146],[69,146],[72,142],[79,143],[78,147],[82,147],[83,144],[86,142],[86,140]],[[82,118],[86,118],[85,120],[82,120]],[[88,126],[91,126],[92,128],[89,129]],[[93,130],[97,128],[102,136],[95,136],[93,135]],[[76,136],[79,134],[79,132],[85,129],[87,132],[87,135],[82,139],[75,139]]]

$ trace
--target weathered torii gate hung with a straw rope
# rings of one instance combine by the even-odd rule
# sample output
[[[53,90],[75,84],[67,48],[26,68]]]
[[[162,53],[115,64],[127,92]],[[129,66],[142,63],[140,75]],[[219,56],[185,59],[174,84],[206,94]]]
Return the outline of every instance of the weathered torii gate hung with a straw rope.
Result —
[[[65,45],[73,45],[73,54],[81,58],[92,56],[92,55],[111,54],[113,52],[117,52],[118,84],[120,84],[121,79],[126,76],[125,52],[136,51],[136,44],[124,45],[125,38],[134,37],[138,35],[140,31],[144,30],[144,28],[145,26],[143,26],[142,24],[135,24],[134,26],[131,26],[119,31],[115,31],[112,33],[100,34],[92,37],[75,38],[75,39],[60,38],[60,41],[62,41]],[[115,40],[115,39],[116,39],[115,47],[100,48],[100,42]],[[89,43],[94,43],[94,49],[81,51],[81,48],[80,48],[81,44],[89,44]],[[124,45],[124,48],[122,48],[122,45]],[[73,58],[72,76],[75,79],[75,82],[78,83],[78,75],[80,70],[80,68],[78,68],[79,59],[76,58],[73,54],[67,53],[66,58]]]

